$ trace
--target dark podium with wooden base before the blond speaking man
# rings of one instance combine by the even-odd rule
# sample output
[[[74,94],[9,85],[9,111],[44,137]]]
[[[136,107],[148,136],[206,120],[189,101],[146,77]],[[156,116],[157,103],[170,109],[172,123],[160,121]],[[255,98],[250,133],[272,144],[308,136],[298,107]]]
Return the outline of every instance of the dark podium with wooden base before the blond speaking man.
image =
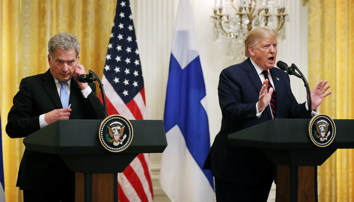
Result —
[[[277,165],[277,202],[318,202],[317,166],[337,148],[354,148],[350,131],[354,120],[333,120],[336,136],[326,147],[312,143],[308,135],[309,122],[310,119],[273,119],[228,136],[231,145],[260,148]]]

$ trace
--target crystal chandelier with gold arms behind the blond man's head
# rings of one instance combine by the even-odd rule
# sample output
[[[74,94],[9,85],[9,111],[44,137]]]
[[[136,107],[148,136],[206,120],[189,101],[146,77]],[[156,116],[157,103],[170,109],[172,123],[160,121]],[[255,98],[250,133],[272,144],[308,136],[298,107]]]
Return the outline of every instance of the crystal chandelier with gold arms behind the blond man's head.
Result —
[[[235,62],[245,59],[244,41],[254,27],[269,26],[285,39],[285,0],[215,0],[213,23],[214,42],[228,44],[228,56]],[[274,6],[276,6],[274,8]],[[272,15],[271,12],[277,12]],[[276,18],[276,23],[274,21]]]

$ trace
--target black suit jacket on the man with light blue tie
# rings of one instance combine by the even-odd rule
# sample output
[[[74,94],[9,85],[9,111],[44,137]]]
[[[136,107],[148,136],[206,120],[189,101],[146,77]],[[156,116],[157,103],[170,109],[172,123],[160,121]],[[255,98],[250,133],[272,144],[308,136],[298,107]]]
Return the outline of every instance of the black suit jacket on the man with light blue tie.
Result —
[[[95,83],[90,84],[90,87],[92,92],[85,99],[76,78],[72,78],[70,119],[104,118],[103,105],[96,96]],[[40,129],[41,114],[59,108],[63,107],[50,69],[44,74],[26,77],[21,80],[19,91],[13,97],[6,133],[10,138],[26,137]],[[74,173],[57,155],[25,150],[19,167],[17,186],[21,190],[37,192],[52,192],[62,187],[73,189]]]

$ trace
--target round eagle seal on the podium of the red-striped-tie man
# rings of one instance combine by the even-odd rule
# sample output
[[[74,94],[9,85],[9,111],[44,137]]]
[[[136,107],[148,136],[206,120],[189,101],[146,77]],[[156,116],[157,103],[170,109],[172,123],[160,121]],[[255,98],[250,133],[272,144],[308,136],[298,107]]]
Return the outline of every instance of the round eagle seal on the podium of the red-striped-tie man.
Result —
[[[324,114],[312,117],[309,124],[310,140],[319,147],[326,147],[336,136],[336,125],[333,120]]]

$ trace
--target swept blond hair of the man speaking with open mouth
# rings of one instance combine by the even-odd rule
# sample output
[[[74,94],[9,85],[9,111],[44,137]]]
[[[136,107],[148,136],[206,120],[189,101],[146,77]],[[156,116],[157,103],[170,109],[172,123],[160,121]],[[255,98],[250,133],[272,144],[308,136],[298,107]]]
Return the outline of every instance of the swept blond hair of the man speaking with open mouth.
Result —
[[[250,33],[248,33],[248,35],[246,36],[245,39],[245,55],[246,57],[250,57],[251,54],[248,51],[248,47],[253,47],[255,46],[258,41],[259,38],[262,37],[269,37],[269,38],[275,38],[278,39],[279,38],[279,33],[269,27],[256,27],[254,29],[251,30]]]

